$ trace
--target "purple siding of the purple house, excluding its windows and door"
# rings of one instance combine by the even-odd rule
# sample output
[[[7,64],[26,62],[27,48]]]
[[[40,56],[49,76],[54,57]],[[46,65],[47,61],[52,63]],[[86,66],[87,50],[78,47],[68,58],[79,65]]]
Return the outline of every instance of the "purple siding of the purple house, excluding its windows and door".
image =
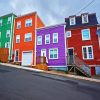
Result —
[[[53,43],[53,33],[58,33],[58,43]],[[50,34],[50,44],[45,44],[46,34]],[[36,56],[41,55],[41,49],[46,49],[48,66],[66,66],[64,25],[37,29],[37,36],[42,36],[42,45],[37,45]],[[49,59],[51,48],[58,48],[58,59]]]

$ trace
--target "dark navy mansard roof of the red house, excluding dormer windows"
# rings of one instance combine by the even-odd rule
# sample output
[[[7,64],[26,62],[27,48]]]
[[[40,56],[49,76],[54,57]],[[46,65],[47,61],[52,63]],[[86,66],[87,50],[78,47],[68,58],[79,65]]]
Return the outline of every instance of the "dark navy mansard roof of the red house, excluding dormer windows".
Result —
[[[78,27],[84,27],[84,26],[94,26],[98,24],[97,18],[96,18],[96,13],[88,14],[88,23],[83,24],[82,23],[82,15],[80,16],[75,16],[76,18],[76,24],[75,25],[70,25],[70,17],[65,18],[66,22],[66,29],[71,29],[71,28],[78,28]]]

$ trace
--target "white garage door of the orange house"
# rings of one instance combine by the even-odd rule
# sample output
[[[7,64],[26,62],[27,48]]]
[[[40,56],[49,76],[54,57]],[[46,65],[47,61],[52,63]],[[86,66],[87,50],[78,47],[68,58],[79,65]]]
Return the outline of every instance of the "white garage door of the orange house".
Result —
[[[22,53],[22,66],[29,66],[32,64],[32,52]]]

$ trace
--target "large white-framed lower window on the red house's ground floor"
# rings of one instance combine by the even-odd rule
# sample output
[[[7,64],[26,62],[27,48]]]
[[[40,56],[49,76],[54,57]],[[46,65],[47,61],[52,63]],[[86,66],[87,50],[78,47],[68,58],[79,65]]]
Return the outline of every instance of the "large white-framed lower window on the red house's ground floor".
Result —
[[[83,59],[93,59],[93,48],[92,46],[83,46]]]

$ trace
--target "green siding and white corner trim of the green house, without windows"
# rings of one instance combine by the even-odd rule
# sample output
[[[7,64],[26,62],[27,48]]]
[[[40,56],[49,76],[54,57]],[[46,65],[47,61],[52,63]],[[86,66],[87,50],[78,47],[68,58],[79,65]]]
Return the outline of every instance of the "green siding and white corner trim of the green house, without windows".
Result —
[[[8,23],[8,17],[11,17],[11,23]],[[0,32],[1,32],[1,38],[0,38],[0,43],[1,47],[0,48],[5,48],[5,43],[9,42],[10,47],[9,47],[9,60],[12,60],[12,42],[13,42],[13,34],[14,34],[14,19],[16,15],[14,14],[8,14],[5,16],[0,17],[2,19],[2,26],[0,26]],[[10,37],[6,37],[7,30],[10,30]]]

